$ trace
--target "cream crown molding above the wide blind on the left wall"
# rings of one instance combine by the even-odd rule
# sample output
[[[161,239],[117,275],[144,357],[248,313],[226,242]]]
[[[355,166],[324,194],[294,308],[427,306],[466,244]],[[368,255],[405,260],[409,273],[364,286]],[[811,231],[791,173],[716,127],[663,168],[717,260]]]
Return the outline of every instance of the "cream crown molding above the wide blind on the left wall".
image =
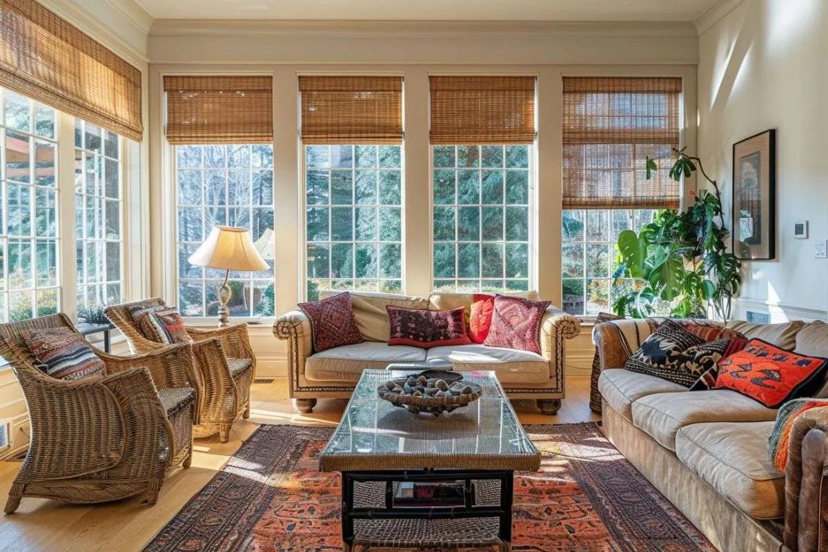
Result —
[[[122,3],[122,0],[117,1]],[[82,5],[83,2],[78,2],[78,0],[38,0],[38,2],[133,65],[142,65],[149,61],[147,31],[110,2],[104,5],[115,11],[118,19],[128,24],[130,33],[120,32],[113,28],[111,24],[104,22],[98,14],[85,8]],[[100,7],[100,4],[98,6]],[[132,40],[126,36],[127,34],[132,36]]]

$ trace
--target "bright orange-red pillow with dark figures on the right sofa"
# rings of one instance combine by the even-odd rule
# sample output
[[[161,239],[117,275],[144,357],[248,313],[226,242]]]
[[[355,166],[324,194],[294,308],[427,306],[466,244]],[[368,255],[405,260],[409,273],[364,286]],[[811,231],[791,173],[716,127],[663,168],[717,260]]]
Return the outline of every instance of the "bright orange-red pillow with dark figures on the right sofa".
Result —
[[[828,358],[805,357],[761,339],[719,362],[716,389],[732,389],[778,408],[786,401],[808,396],[823,383]]]

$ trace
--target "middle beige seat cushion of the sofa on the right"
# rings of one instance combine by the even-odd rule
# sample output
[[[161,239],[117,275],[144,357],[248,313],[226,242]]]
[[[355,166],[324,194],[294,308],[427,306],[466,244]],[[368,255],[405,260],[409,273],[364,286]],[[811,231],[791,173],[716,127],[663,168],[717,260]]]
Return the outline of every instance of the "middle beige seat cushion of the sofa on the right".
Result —
[[[670,450],[685,425],[766,420],[776,420],[776,410],[735,391],[658,393],[633,402],[633,424]]]

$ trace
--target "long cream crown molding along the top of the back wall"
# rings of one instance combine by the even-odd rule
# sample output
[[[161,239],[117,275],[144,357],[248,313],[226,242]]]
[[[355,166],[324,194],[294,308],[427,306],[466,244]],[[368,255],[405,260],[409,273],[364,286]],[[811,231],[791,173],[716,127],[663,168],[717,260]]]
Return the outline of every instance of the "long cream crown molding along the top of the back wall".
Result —
[[[696,37],[691,22],[252,21],[156,19],[150,36]]]

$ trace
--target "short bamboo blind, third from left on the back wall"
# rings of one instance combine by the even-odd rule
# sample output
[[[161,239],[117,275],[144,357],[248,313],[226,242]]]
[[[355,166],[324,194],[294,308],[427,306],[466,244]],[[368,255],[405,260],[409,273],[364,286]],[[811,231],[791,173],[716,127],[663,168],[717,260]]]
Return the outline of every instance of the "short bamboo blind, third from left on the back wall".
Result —
[[[432,144],[535,141],[535,77],[433,76]]]

